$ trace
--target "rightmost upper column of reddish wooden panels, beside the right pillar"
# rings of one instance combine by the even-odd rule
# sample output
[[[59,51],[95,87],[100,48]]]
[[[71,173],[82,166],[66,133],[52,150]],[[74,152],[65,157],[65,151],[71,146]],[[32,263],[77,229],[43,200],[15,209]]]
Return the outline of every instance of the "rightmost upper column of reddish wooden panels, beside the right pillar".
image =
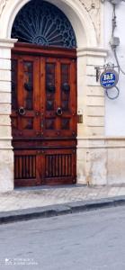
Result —
[[[62,137],[76,137],[76,61],[61,59],[60,130]]]

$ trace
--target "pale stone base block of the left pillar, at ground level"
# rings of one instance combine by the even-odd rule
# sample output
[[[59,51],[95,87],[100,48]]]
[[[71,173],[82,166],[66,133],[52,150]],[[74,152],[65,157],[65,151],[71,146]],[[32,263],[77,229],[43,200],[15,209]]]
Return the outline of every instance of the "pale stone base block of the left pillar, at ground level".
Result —
[[[13,150],[0,149],[0,192],[13,190]]]

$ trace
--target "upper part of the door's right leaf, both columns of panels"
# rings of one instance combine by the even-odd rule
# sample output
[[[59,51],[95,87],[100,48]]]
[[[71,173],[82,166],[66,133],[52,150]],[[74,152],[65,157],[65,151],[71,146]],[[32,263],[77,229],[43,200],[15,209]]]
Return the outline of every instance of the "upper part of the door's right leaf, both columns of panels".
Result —
[[[46,58],[44,65],[43,134],[45,137],[74,138],[76,137],[76,61],[67,58]],[[47,85],[51,85],[51,92]]]

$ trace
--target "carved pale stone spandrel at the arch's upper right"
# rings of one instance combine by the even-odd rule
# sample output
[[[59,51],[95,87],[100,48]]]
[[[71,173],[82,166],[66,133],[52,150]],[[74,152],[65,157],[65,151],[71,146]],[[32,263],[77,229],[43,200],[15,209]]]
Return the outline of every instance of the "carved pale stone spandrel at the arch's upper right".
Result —
[[[79,0],[89,14],[96,32],[97,41],[101,35],[101,4],[100,0]]]

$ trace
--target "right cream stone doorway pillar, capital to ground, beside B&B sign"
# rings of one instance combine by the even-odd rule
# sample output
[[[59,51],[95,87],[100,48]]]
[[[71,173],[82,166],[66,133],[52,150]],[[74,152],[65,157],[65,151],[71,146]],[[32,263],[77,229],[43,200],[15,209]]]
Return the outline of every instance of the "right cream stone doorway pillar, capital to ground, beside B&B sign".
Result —
[[[107,56],[105,49],[78,49],[78,108],[83,109],[83,124],[78,124],[77,182],[107,183],[107,154],[104,138],[104,91],[96,82],[95,66],[102,66]],[[91,139],[90,139],[91,138]],[[94,144],[94,149],[92,148]]]

